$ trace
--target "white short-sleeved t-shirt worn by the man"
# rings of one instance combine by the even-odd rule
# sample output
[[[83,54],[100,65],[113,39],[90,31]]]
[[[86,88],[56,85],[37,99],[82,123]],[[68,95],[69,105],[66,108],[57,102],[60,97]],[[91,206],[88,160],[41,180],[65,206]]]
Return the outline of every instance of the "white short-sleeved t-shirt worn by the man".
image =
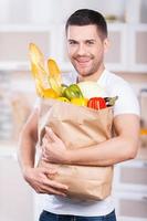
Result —
[[[76,75],[70,75],[69,78],[63,76],[65,84],[76,82]],[[139,105],[132,87],[122,77],[104,71],[98,82],[106,90],[107,96],[118,96],[114,106],[114,116],[120,114],[139,115]],[[70,199],[64,197],[44,196],[44,210],[56,214],[74,214],[83,217],[106,215],[114,210],[112,196],[101,201],[85,201],[78,199]]]

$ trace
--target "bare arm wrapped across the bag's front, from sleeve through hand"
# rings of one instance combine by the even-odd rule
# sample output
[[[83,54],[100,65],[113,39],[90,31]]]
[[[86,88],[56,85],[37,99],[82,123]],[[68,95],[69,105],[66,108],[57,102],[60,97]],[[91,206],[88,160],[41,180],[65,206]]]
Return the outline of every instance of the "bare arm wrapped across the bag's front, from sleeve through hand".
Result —
[[[55,138],[53,131],[48,131],[44,159],[56,164],[109,166],[135,158],[139,140],[139,117],[134,114],[118,115],[114,118],[114,127],[116,137],[76,150],[65,149],[62,140]]]

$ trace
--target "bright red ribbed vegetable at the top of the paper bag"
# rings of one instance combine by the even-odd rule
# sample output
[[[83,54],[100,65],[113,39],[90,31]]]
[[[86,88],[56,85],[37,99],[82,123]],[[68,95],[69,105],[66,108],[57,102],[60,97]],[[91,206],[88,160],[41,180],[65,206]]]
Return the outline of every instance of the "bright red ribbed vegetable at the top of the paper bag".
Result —
[[[103,97],[92,97],[88,99],[87,107],[102,109],[106,107],[106,102]]]

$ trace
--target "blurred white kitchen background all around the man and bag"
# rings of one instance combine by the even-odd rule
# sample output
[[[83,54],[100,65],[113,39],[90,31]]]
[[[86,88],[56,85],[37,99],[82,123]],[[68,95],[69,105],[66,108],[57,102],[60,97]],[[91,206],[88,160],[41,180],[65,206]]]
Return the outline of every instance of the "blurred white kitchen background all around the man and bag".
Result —
[[[140,102],[140,149],[135,160],[115,167],[114,194],[118,221],[147,221],[147,1],[0,0],[1,221],[36,221],[43,198],[23,181],[17,161],[18,135],[35,101],[28,45],[36,43],[70,77],[64,22],[80,8],[107,19],[106,66],[132,84]]]

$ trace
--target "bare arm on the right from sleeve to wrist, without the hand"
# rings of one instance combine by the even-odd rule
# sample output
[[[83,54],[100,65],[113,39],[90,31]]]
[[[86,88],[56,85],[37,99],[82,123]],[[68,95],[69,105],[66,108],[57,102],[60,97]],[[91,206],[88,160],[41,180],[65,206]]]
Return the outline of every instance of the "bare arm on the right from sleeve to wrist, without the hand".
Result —
[[[139,117],[119,115],[114,118],[116,137],[88,148],[70,151],[76,165],[109,166],[135,158],[139,140]]]

